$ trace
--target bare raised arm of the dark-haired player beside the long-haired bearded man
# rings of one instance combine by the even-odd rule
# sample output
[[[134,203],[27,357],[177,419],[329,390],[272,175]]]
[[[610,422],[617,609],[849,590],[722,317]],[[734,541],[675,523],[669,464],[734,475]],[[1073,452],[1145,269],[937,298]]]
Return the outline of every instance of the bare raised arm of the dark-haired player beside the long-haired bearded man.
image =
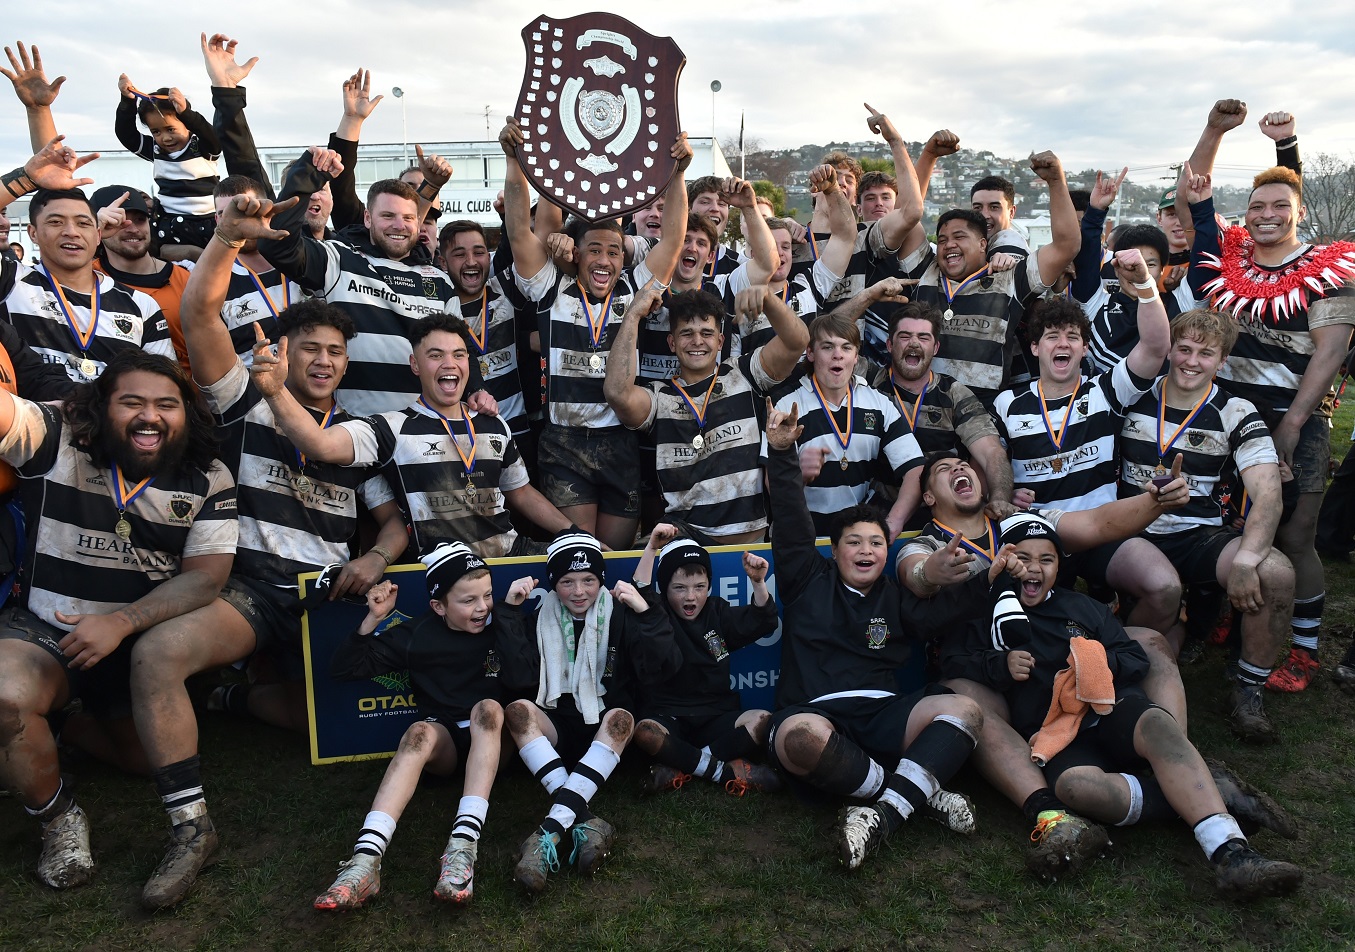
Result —
[[[221,320],[236,255],[249,238],[280,237],[270,221],[295,203],[295,198],[274,204],[268,199],[236,195],[218,217],[215,236],[207,241],[194,265],[179,305],[188,363],[201,386],[210,387],[240,360],[230,344],[230,332]]]

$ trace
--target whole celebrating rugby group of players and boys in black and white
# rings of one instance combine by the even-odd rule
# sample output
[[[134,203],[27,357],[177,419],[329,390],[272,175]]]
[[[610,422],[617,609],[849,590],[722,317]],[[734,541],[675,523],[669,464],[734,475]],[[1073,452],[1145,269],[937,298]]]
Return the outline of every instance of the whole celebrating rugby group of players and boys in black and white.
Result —
[[[377,895],[425,771],[465,775],[435,895],[469,902],[515,757],[549,800],[515,879],[591,875],[615,837],[591,803],[631,743],[654,792],[843,804],[848,869],[912,817],[972,831],[944,787],[972,762],[1030,821],[1038,876],[1099,856],[1107,825],[1182,819],[1224,892],[1301,884],[1248,841],[1297,825],[1196,752],[1180,674],[1226,645],[1222,716],[1278,743],[1285,693],[1320,670],[1355,245],[1299,237],[1291,114],[1260,119],[1276,164],[1230,228],[1211,169],[1238,100],[1207,110],[1156,225],[1107,230],[1125,172],[1076,188],[1031,154],[1034,251],[997,176],[928,234],[959,139],[911,156],[870,106],[894,173],[825,156],[808,225],[737,177],[688,181],[684,134],[657,202],[566,221],[534,202],[509,118],[486,236],[439,221],[451,168],[421,149],[359,199],[364,70],[272,183],[245,118],[256,60],[203,34],[211,118],[122,76],[117,134],[156,191],[87,195],[65,77],[5,53],[34,154],[0,179],[0,219],[30,196],[38,260],[16,245],[0,267],[0,780],[47,886],[95,872],[60,743],[153,779],[171,840],[142,902],[190,892],[218,834],[186,680],[248,664],[206,708],[305,730],[314,571],[310,599],[367,604],[328,676],[408,670],[423,718],[317,909]],[[713,593],[711,546],[745,547],[748,604]],[[608,578],[604,553],[633,548],[634,577]],[[495,592],[485,559],[526,555],[545,578]],[[419,562],[428,611],[392,624],[385,570]],[[730,654],[778,626],[775,710],[744,710]],[[902,693],[917,653],[927,684]]]

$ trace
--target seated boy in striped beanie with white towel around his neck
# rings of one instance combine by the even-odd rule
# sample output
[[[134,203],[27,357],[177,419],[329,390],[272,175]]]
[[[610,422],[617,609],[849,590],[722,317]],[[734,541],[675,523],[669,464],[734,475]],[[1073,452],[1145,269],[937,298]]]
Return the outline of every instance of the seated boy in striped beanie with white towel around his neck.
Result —
[[[561,532],[546,555],[550,590],[528,619],[518,653],[539,672],[535,700],[505,710],[508,733],[533,776],[551,798],[550,813],[522,844],[514,869],[528,892],[560,871],[558,846],[591,876],[611,850],[615,830],[588,813],[588,800],[621,762],[635,722],[630,684],[659,684],[682,666],[668,616],[630,582],[603,588],[607,569],[596,538]],[[653,596],[650,596],[653,597]],[[565,764],[575,764],[566,771]]]

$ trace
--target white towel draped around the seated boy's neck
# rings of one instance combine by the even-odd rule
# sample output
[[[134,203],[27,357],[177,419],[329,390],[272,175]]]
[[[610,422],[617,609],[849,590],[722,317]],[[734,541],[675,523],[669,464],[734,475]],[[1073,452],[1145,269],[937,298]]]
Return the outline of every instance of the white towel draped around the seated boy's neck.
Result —
[[[565,611],[560,596],[547,592],[541,601],[541,612],[537,616],[537,649],[541,651],[539,687],[537,688],[537,706],[546,711],[554,711],[560,701],[560,695],[570,693],[575,697],[575,707],[584,716],[585,724],[596,724],[602,720],[602,696],[607,689],[602,685],[602,676],[607,670],[607,642],[611,631],[611,592],[603,589],[598,593],[598,601],[592,604],[584,616],[584,631],[575,646],[575,672],[570,683],[565,684],[565,641],[564,626],[568,624],[573,636],[573,616]]]

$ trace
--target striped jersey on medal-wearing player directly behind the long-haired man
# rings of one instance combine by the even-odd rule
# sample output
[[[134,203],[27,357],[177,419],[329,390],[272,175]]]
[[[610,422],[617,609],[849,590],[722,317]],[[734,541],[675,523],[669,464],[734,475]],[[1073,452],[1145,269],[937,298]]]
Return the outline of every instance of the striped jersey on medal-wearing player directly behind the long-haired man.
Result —
[[[0,261],[4,318],[19,332],[24,344],[46,363],[65,368],[76,383],[98,379],[121,351],[144,349],[178,360],[173,341],[169,340],[169,322],[154,298],[98,271],[91,269],[91,274],[98,282],[95,294],[62,287],[58,295],[54,279],[45,269],[4,259]],[[62,310],[62,297],[70,307],[75,329]],[[81,348],[76,333],[89,329],[95,309],[99,316],[93,336],[89,337],[88,348]],[[92,372],[84,372],[83,367]]]

